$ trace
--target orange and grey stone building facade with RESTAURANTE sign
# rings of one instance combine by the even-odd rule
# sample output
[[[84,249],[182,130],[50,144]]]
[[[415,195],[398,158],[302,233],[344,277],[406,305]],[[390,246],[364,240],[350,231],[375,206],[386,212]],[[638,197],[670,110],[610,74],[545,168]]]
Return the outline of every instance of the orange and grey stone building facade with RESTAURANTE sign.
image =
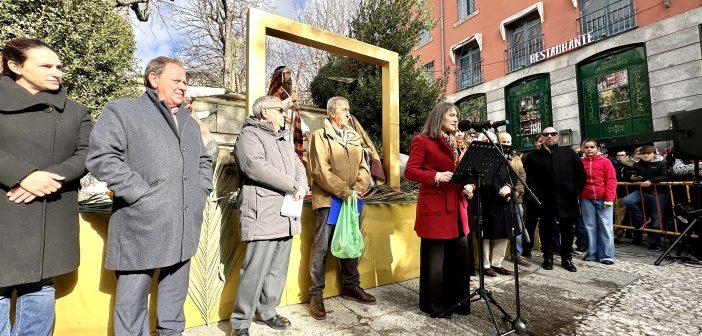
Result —
[[[669,138],[702,108],[701,0],[432,0],[414,54],[461,117],[508,119],[519,149],[553,125],[565,144]]]

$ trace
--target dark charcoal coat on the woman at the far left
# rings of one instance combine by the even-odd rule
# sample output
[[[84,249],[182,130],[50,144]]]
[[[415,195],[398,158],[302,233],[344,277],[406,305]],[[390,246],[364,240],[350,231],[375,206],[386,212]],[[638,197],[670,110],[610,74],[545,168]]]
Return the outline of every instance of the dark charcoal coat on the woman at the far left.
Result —
[[[0,78],[0,287],[78,267],[78,188],[92,120],[66,92],[31,95]],[[35,170],[64,176],[61,189],[29,204],[7,192]]]

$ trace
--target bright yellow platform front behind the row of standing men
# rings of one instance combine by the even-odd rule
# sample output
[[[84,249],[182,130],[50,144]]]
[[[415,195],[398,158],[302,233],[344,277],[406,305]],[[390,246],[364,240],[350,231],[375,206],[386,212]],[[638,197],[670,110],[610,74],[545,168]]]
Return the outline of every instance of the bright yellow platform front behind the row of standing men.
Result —
[[[414,232],[415,209],[414,204],[365,207],[362,230],[366,250],[359,265],[363,287],[376,287],[419,276],[419,238]],[[81,263],[78,271],[57,278],[55,335],[112,335],[116,281],[114,272],[104,269],[108,219],[109,214],[86,213],[80,216]],[[307,260],[313,227],[314,213],[311,208],[305,207],[302,235],[296,236],[293,241],[281,305],[300,303],[307,299],[307,289],[310,286]],[[238,248],[243,251],[244,244]],[[219,317],[222,320],[228,319],[232,310],[241,258],[236,260],[239,264],[227,275],[219,302]],[[338,263],[330,257],[327,262],[325,297],[340,294],[340,284]],[[151,307],[154,302],[152,296]],[[154,310],[151,311],[153,328],[155,315]],[[190,297],[185,302],[185,316],[187,327],[205,324]]]

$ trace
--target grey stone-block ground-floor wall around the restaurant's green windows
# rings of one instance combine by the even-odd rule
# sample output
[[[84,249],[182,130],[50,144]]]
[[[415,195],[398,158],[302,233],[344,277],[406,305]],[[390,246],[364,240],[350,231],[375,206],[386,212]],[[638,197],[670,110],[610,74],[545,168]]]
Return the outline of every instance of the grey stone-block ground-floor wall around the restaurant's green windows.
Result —
[[[529,75],[548,73],[554,126],[557,129],[572,129],[573,143],[579,143],[577,64],[606,50],[644,43],[651,85],[653,126],[656,131],[665,130],[668,129],[668,113],[702,107],[701,24],[702,8],[695,8],[454,93],[447,99],[457,101],[471,94],[486,93],[488,119],[505,119],[505,86]]]

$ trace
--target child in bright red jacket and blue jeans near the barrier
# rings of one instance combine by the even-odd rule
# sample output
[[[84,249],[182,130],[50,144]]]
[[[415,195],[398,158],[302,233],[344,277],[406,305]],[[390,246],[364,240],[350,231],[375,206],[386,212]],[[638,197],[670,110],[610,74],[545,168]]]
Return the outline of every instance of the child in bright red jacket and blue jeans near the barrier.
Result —
[[[617,175],[612,162],[600,155],[597,140],[583,141],[581,159],[587,174],[580,194],[580,215],[588,236],[583,260],[614,263],[613,204],[617,197]]]

